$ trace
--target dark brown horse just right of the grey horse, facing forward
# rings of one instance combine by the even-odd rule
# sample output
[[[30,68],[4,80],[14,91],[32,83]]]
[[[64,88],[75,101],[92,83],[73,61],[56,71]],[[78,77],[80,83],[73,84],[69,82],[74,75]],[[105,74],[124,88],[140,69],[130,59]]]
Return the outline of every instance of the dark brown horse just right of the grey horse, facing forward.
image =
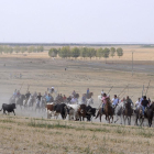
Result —
[[[124,101],[124,109],[123,109],[123,121],[125,125],[125,120],[128,119],[128,124],[131,125],[131,117],[133,114],[133,109],[131,107],[130,101]]]

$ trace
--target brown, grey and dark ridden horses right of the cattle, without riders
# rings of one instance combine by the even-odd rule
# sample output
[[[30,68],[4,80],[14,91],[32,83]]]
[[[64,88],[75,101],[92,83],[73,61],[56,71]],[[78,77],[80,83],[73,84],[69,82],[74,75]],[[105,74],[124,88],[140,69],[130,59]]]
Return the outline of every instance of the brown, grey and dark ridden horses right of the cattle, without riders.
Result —
[[[98,97],[99,98],[99,97]],[[122,121],[125,125],[125,122],[128,120],[128,125],[131,125],[131,118],[133,117],[134,120],[134,125],[143,125],[144,119],[147,119],[148,121],[148,127],[152,127],[152,121],[153,121],[153,112],[154,112],[154,102],[145,109],[144,116],[142,112],[142,106],[140,107],[134,107],[133,103],[130,103],[127,99],[119,102],[117,106],[112,106],[110,99],[108,99],[107,103],[105,105],[105,109],[99,108],[99,111],[97,113],[96,119],[99,117],[100,122],[101,122],[101,117],[105,114],[106,120],[109,121],[112,119],[111,122],[117,122],[120,118],[122,124]],[[116,120],[113,121],[113,116],[116,116]]]

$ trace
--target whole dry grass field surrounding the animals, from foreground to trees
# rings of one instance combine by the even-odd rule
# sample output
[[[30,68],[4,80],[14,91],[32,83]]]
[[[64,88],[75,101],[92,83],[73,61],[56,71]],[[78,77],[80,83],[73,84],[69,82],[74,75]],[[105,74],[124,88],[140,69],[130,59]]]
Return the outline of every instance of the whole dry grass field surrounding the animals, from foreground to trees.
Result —
[[[87,88],[94,92],[94,107],[99,107],[97,97],[103,89],[111,98],[128,87],[120,98],[130,96],[133,102],[142,95],[142,87],[151,80],[147,96],[154,100],[154,50],[124,46],[124,56],[105,61],[61,59],[40,54],[0,55],[0,106],[8,103],[14,89],[25,94],[42,92],[48,87],[69,96],[73,90],[82,94]],[[134,75],[131,74],[131,53],[134,51]],[[4,66],[6,64],[6,66]],[[67,70],[65,72],[65,67]],[[22,78],[19,78],[22,74]],[[62,153],[154,153],[153,128],[123,127],[92,122],[47,120],[45,113],[28,113],[15,110],[15,117],[0,113],[0,153],[2,154],[62,154]],[[32,118],[33,117],[33,118]],[[43,117],[43,119],[41,119]],[[32,118],[32,119],[31,119]],[[61,118],[59,118],[61,119]],[[134,123],[132,122],[132,125]]]

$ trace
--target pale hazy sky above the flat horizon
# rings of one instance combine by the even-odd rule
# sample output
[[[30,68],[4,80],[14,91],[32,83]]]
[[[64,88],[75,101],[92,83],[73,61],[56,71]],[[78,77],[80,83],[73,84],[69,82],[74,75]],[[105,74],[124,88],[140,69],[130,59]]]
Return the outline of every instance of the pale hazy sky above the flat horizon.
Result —
[[[154,43],[154,0],[0,0],[0,42]]]

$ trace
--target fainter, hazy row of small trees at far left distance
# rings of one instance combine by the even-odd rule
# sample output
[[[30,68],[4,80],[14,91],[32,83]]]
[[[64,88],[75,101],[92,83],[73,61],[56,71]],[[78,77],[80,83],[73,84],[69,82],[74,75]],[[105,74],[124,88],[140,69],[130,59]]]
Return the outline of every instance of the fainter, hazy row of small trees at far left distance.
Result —
[[[26,46],[7,46],[7,45],[0,45],[0,54],[4,53],[4,54],[12,54],[13,52],[14,53],[40,53],[40,52],[43,52],[44,51],[44,47],[43,46],[30,46],[30,47],[26,47]]]

